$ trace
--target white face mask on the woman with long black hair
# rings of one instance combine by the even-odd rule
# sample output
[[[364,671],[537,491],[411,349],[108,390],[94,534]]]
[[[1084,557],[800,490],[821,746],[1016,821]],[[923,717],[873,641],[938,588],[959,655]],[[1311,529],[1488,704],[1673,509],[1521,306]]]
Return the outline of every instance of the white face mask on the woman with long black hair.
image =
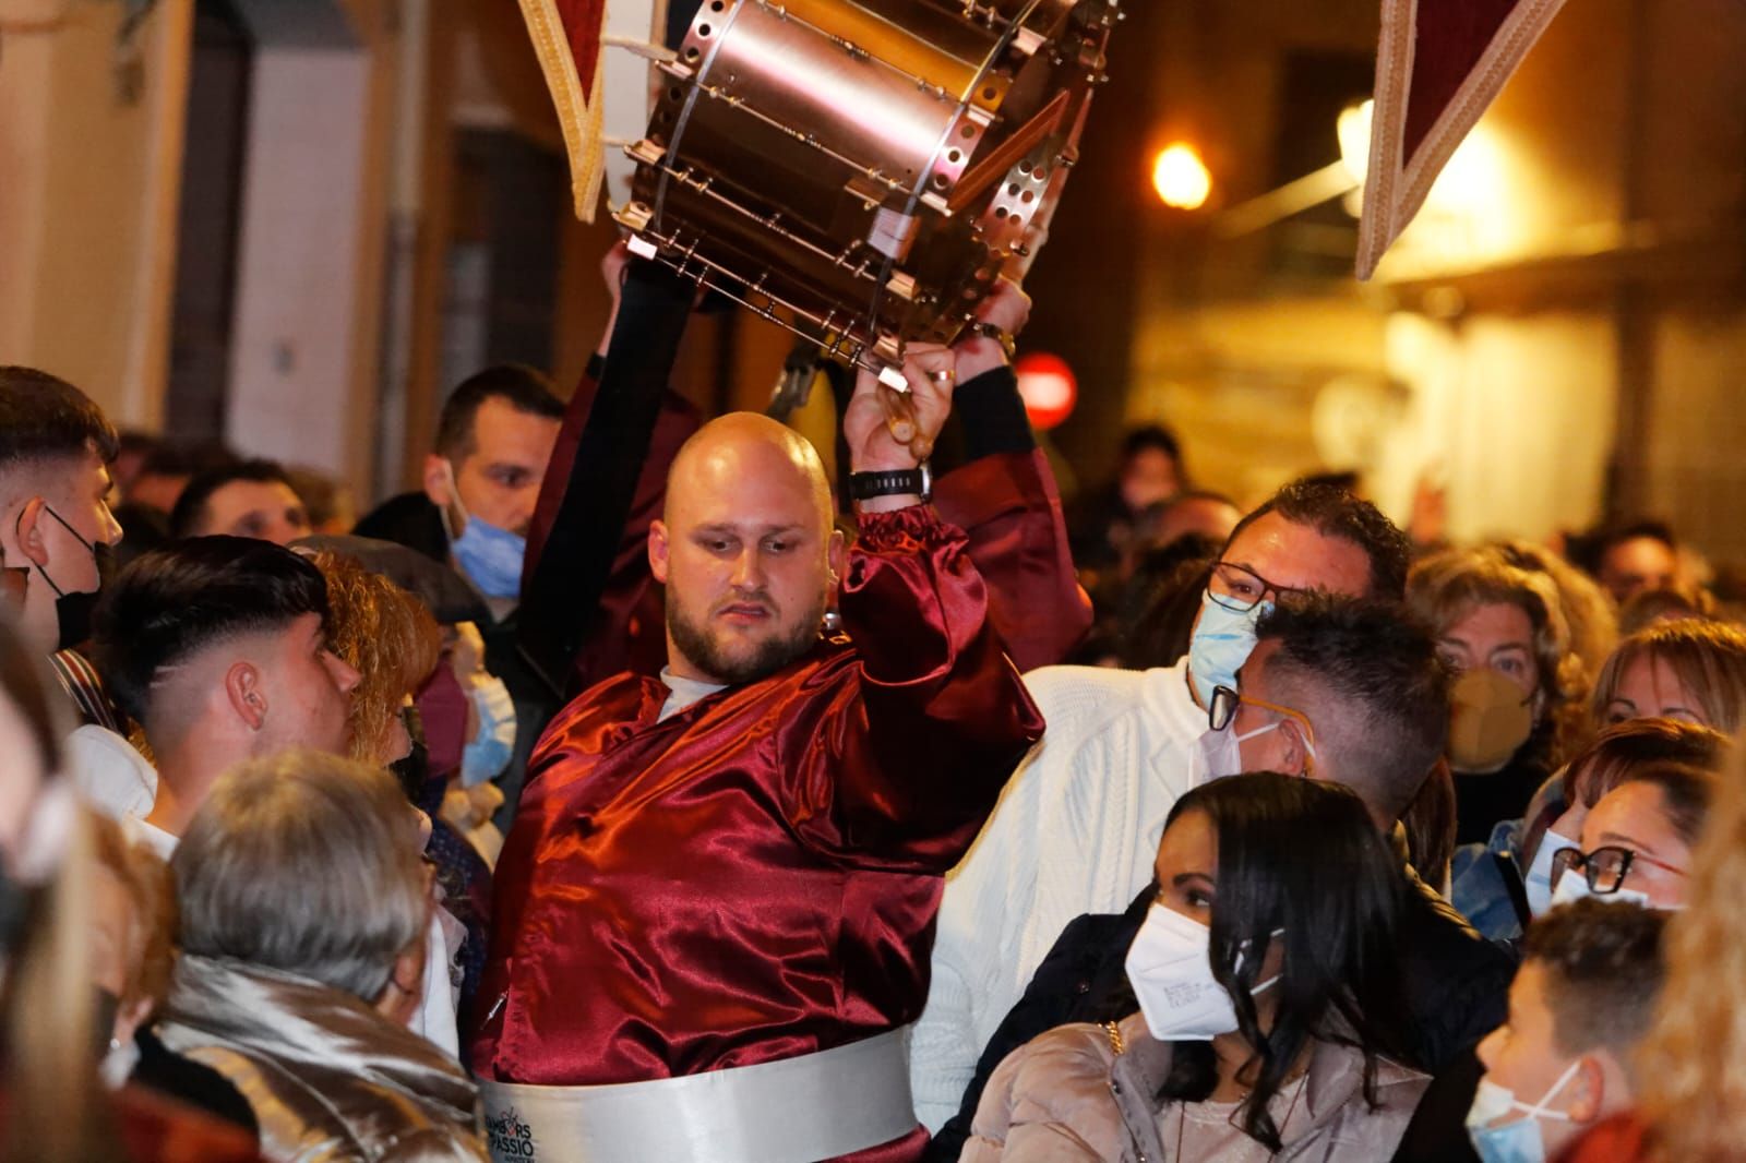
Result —
[[[1158,1041],[1200,1043],[1236,1030],[1231,995],[1212,976],[1212,929],[1198,920],[1152,905],[1128,948],[1126,969],[1145,1029]],[[1275,981],[1261,981],[1254,992]]]

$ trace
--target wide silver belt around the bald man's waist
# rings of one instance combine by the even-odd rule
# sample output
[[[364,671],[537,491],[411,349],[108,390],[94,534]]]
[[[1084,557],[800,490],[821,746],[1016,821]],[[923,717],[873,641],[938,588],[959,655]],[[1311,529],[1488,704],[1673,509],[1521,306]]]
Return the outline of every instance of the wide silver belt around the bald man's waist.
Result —
[[[815,1163],[917,1126],[910,1027],[683,1077],[478,1091],[494,1163]]]

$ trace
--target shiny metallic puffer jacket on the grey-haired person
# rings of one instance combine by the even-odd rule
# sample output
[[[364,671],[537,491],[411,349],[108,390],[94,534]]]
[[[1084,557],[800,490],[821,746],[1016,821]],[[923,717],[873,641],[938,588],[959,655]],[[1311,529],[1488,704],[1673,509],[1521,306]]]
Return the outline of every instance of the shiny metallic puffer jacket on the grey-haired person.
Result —
[[[342,990],[183,955],[157,1036],[234,1084],[269,1163],[478,1163],[478,1091],[412,1030]]]

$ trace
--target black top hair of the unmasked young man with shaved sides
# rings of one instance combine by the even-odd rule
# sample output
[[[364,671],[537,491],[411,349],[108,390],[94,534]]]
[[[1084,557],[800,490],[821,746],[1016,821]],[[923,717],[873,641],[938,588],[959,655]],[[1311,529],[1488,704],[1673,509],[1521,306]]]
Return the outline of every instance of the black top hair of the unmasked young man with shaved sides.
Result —
[[[189,538],[141,554],[105,587],[93,648],[117,705],[150,726],[152,683],[164,667],[309,613],[327,622],[314,564],[255,538]]]

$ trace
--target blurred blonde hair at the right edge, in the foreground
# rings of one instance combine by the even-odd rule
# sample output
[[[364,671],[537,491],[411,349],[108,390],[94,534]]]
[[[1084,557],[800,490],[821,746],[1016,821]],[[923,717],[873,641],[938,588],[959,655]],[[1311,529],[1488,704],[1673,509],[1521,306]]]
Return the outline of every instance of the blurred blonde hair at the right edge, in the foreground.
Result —
[[[1667,983],[1638,1049],[1639,1109],[1659,1158],[1737,1160],[1746,1142],[1746,754],[1736,744],[1667,926]]]

